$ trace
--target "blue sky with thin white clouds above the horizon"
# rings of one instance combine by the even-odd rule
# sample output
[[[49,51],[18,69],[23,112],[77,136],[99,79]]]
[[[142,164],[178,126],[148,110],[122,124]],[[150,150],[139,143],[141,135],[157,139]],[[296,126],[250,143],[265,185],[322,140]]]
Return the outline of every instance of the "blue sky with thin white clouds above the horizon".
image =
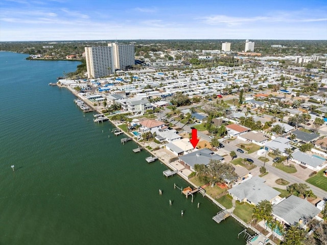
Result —
[[[0,41],[327,40],[325,0],[0,0]]]

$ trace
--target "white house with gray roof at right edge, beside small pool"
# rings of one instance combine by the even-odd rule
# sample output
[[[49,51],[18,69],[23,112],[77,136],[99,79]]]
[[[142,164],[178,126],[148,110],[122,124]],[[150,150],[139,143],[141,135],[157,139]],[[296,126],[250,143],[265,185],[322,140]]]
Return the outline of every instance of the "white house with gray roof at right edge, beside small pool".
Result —
[[[292,162],[295,162],[299,165],[308,167],[311,170],[319,171],[320,169],[327,166],[326,159],[316,155],[308,155],[301,151],[296,151],[292,153],[290,158]]]

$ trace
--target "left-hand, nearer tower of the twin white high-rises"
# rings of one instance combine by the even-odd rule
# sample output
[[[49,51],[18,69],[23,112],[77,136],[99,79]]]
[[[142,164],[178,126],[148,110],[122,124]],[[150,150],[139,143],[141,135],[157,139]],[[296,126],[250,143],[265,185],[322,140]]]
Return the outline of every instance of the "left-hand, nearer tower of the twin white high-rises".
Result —
[[[114,59],[111,46],[85,47],[88,78],[101,78],[113,74]]]

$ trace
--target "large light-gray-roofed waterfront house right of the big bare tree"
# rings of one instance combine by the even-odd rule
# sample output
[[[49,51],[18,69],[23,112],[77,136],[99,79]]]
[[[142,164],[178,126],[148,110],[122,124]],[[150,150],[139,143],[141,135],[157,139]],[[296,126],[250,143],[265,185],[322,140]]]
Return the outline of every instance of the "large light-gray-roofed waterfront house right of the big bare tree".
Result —
[[[247,202],[252,205],[257,205],[263,200],[273,202],[279,199],[278,195],[281,192],[265,185],[263,178],[255,176],[237,186],[232,187],[228,190],[231,197],[240,202]]]

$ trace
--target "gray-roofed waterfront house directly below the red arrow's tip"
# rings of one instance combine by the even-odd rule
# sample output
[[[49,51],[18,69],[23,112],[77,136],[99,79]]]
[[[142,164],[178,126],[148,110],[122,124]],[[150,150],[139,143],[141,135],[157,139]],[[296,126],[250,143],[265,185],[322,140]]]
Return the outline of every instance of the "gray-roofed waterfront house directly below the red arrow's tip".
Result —
[[[184,163],[184,165],[189,165],[192,171],[194,171],[195,164],[207,166],[211,160],[222,161],[224,158],[207,148],[179,157],[179,161]]]

